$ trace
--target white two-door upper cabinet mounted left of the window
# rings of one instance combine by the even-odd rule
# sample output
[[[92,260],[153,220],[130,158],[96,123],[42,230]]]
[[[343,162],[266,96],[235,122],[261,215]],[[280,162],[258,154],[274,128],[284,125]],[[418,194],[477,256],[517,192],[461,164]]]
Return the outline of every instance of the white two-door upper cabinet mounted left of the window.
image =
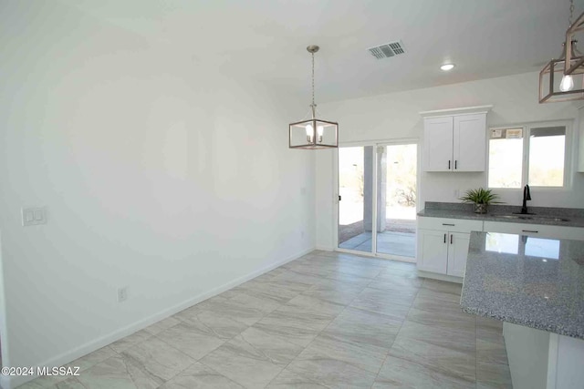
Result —
[[[453,115],[444,115],[448,111],[422,112],[424,171],[485,171],[486,112],[490,106],[456,112],[474,108],[483,111]]]

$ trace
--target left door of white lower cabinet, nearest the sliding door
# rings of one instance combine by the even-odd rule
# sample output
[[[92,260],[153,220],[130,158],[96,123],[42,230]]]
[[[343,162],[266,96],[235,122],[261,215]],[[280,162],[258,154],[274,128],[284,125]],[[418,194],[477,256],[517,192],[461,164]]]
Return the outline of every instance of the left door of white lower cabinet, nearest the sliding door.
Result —
[[[418,230],[418,269],[446,274],[448,232],[440,230]]]

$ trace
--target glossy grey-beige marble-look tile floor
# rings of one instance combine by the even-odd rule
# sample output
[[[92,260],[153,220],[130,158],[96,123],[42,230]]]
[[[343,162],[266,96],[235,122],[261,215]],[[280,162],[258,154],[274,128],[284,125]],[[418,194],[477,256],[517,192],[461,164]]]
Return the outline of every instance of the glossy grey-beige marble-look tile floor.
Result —
[[[21,388],[505,388],[501,322],[415,265],[313,251]]]

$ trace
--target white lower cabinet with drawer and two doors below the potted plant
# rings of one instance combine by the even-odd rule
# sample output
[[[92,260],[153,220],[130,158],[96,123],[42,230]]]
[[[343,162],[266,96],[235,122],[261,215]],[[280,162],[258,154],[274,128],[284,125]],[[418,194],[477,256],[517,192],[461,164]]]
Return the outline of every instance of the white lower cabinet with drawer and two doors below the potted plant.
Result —
[[[464,277],[472,230],[483,221],[418,218],[418,270]]]

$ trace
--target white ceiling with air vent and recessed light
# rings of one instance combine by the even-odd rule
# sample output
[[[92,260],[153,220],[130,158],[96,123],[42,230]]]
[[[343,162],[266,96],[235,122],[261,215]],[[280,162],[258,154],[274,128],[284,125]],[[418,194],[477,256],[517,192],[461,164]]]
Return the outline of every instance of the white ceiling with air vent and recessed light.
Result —
[[[568,0],[62,0],[103,23],[317,102],[538,71],[558,57]],[[574,18],[584,11],[575,2]],[[367,48],[401,40],[406,54]],[[439,66],[454,62],[453,71]]]

